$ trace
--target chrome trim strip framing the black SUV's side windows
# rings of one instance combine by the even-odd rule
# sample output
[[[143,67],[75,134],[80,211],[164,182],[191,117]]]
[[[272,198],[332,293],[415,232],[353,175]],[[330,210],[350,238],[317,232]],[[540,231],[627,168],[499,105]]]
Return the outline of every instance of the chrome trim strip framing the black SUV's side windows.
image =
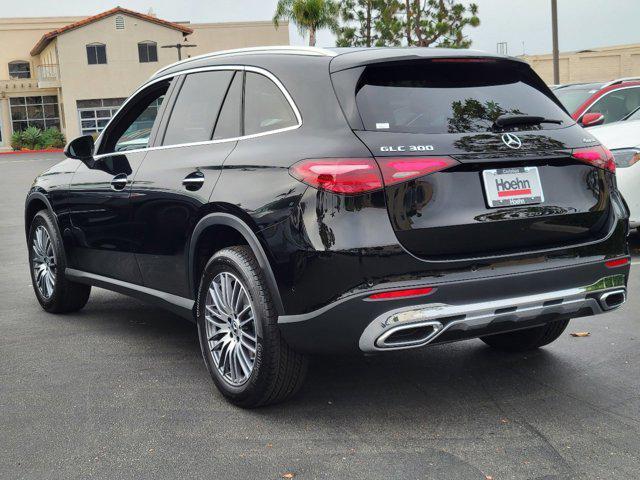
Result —
[[[221,138],[221,139],[218,139],[218,140],[204,140],[202,142],[178,143],[178,144],[175,144],[175,145],[158,145],[156,147],[145,147],[145,148],[138,148],[138,149],[135,149],[135,150],[127,150],[126,153],[129,154],[129,153],[134,153],[134,152],[146,152],[146,151],[153,151],[153,150],[166,150],[166,149],[169,149],[169,148],[192,147],[192,146],[197,146],[197,145],[212,145],[212,144],[216,144],[216,143],[237,142],[239,140],[246,140],[246,139],[250,139],[250,138],[264,137],[266,135],[273,135],[273,134],[277,134],[277,133],[288,132],[290,130],[295,130],[297,128],[300,128],[302,126],[302,115],[300,114],[300,110],[298,110],[298,106],[293,101],[293,98],[291,97],[291,95],[289,94],[287,89],[284,87],[282,82],[280,82],[278,77],[276,77],[273,73],[271,73],[270,71],[268,71],[268,70],[266,70],[264,68],[252,67],[252,66],[248,66],[248,65],[216,65],[216,66],[209,66],[209,67],[192,68],[192,69],[189,69],[189,70],[182,70],[180,72],[170,73],[170,74],[167,74],[167,75],[163,75],[162,77],[154,78],[153,80],[145,83],[144,85],[139,87],[135,92],[133,92],[129,96],[129,98],[127,98],[124,101],[124,103],[120,106],[120,109],[118,110],[118,112],[111,118],[109,123],[107,123],[107,125],[104,127],[104,129],[100,133],[100,136],[96,140],[96,143],[99,145],[102,142],[102,135],[103,135],[104,132],[106,132],[109,129],[109,127],[111,126],[111,122],[113,122],[114,120],[116,120],[118,118],[118,114],[120,113],[120,111],[131,101],[132,98],[134,98],[136,95],[138,95],[138,93],[140,93],[142,90],[145,90],[146,88],[148,88],[149,86],[151,86],[151,85],[153,85],[155,83],[162,82],[162,81],[174,78],[174,77],[178,77],[180,75],[188,75],[188,74],[191,74],[191,73],[209,72],[209,71],[216,71],[216,70],[235,70],[235,71],[240,71],[240,72],[255,72],[255,73],[264,75],[265,77],[267,77],[269,80],[271,80],[280,89],[280,91],[284,95],[285,99],[289,103],[289,106],[293,110],[293,113],[296,116],[296,120],[297,120],[298,123],[296,125],[292,125],[290,127],[278,128],[276,130],[269,130],[268,132],[254,133],[254,134],[251,134],[251,135],[242,135],[242,136],[233,137],[233,138]],[[99,158],[102,158],[102,157],[106,157],[106,156],[113,155],[113,154],[118,154],[118,153],[124,153],[124,152],[116,152],[116,151],[114,151],[114,152],[108,152],[108,153],[101,153],[99,155],[94,155],[94,158],[95,159],[99,159]]]

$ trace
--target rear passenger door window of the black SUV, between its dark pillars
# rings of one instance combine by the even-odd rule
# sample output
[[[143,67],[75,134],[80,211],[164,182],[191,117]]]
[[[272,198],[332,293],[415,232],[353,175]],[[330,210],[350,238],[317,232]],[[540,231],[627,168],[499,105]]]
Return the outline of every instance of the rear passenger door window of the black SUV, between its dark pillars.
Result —
[[[187,75],[171,111],[163,145],[211,140],[232,71]]]

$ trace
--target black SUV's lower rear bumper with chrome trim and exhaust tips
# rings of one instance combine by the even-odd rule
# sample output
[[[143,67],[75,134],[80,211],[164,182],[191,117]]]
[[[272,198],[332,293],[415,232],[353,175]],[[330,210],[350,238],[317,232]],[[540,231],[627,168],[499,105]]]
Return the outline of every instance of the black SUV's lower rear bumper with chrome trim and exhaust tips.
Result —
[[[281,316],[279,326],[289,344],[310,353],[415,348],[612,310],[626,300],[628,273],[629,265],[611,269],[597,262],[429,282],[432,294],[409,299],[371,301],[373,291],[361,292],[308,314]]]

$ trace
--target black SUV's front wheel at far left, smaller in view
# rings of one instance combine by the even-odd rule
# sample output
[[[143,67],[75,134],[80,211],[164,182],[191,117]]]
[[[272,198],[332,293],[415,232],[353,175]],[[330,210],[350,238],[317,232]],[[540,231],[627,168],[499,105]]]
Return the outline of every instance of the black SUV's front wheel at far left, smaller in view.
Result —
[[[62,238],[48,210],[36,213],[29,227],[31,283],[43,309],[51,313],[80,310],[87,304],[91,286],[65,278],[67,262]]]

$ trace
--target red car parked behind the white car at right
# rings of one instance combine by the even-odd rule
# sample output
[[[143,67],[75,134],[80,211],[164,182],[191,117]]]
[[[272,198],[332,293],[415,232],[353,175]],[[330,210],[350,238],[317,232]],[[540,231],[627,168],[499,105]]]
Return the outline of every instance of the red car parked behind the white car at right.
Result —
[[[640,78],[559,85],[553,93],[583,127],[623,120],[640,107]]]

